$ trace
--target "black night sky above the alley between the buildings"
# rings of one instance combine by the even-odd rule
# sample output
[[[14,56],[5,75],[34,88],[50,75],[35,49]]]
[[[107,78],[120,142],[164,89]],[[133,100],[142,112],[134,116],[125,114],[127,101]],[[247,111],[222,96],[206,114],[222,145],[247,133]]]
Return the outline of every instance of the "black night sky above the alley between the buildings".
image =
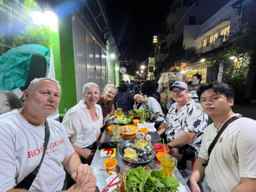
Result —
[[[151,55],[154,50],[153,36],[166,30],[165,20],[171,2],[105,0],[111,30],[127,60],[145,61]],[[122,50],[119,60],[125,57]]]

